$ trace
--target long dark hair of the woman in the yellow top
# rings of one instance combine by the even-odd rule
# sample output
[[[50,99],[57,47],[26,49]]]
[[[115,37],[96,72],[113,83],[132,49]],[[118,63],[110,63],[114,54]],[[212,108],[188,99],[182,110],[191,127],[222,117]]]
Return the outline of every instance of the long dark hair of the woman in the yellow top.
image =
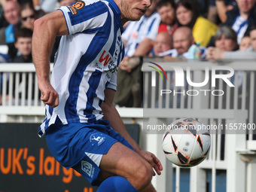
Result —
[[[190,29],[192,29],[194,24],[197,21],[197,17],[199,17],[200,6],[197,6],[197,4],[192,0],[179,0],[175,6],[175,11],[177,11],[177,8],[179,6],[183,6],[184,8],[192,12],[192,19],[190,23],[186,25]],[[181,23],[178,22],[178,20],[177,20],[177,23],[178,23],[178,26],[182,26]]]

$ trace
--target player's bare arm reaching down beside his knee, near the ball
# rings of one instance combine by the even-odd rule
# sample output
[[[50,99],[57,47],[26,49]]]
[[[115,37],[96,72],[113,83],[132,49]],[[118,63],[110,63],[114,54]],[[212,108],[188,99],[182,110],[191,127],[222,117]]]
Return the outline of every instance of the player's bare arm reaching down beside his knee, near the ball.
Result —
[[[110,122],[111,127],[115,131],[120,133],[120,135],[123,136],[126,139],[126,141],[130,143],[130,145],[132,145],[136,152],[140,154],[142,157],[144,157],[145,160],[147,160],[148,163],[151,164],[151,166],[154,168],[157,174],[160,175],[161,171],[163,170],[163,166],[160,163],[160,160],[158,160],[154,154],[148,151],[143,151],[141,148],[139,148],[139,145],[137,145],[136,142],[130,136],[130,134],[127,133],[123,121],[121,120],[120,115],[117,112],[117,109],[113,105],[114,94],[114,90],[105,90],[105,102],[102,103],[102,111],[105,114],[104,118]]]

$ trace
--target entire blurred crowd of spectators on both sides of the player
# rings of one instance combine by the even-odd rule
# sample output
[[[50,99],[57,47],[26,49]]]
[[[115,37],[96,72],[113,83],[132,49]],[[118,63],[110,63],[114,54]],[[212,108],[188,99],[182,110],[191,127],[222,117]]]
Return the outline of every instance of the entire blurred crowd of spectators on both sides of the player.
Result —
[[[2,62],[32,62],[33,23],[75,0],[0,0]],[[184,59],[256,59],[256,0],[154,0],[139,21],[123,29],[125,57],[120,63],[117,94],[120,106],[141,107],[145,56]],[[21,36],[20,36],[21,35]],[[56,38],[50,61],[59,46]],[[19,44],[20,41],[24,41]],[[200,53],[195,53],[195,47]],[[24,50],[26,53],[24,54]],[[0,81],[2,82],[2,81]]]

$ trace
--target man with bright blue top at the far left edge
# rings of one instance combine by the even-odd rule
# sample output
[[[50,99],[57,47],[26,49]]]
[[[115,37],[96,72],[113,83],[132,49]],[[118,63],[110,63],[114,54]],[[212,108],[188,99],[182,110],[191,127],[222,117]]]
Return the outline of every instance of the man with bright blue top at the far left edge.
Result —
[[[4,5],[4,14],[9,25],[7,28],[0,30],[0,37],[2,37],[0,44],[7,44],[8,54],[11,58],[14,58],[17,54],[17,50],[14,47],[14,33],[20,28],[20,5],[15,1],[7,1]],[[3,37],[5,37],[4,41]]]

